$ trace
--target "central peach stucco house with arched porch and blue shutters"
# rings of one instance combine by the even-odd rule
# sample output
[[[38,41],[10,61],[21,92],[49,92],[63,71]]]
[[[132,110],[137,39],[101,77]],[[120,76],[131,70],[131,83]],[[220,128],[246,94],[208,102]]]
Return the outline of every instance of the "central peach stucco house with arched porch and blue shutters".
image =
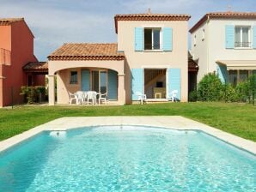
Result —
[[[107,93],[119,105],[137,100],[187,101],[187,30],[190,15],[115,15],[114,44],[64,44],[48,57],[49,105],[68,104],[69,92]]]

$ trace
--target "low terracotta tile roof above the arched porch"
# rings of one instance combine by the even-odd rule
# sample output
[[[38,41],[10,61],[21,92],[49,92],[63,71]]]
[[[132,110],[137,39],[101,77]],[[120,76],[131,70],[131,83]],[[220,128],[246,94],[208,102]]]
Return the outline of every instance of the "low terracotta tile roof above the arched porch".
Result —
[[[117,44],[64,44],[50,56],[49,60],[124,60],[125,54],[118,52]]]

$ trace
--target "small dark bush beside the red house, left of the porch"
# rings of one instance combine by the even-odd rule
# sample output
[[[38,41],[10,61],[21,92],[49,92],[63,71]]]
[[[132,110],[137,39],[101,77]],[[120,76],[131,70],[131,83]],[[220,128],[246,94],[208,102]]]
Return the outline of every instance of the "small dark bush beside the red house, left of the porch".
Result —
[[[21,95],[24,95],[27,104],[33,104],[35,102],[41,102],[46,97],[46,87],[21,87]]]

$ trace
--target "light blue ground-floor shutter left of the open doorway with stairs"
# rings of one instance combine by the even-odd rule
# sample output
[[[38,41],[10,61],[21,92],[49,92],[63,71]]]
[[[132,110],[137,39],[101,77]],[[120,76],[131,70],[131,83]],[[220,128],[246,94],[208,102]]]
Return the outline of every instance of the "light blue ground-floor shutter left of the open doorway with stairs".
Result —
[[[137,100],[136,92],[143,93],[143,69],[131,69],[131,100]]]

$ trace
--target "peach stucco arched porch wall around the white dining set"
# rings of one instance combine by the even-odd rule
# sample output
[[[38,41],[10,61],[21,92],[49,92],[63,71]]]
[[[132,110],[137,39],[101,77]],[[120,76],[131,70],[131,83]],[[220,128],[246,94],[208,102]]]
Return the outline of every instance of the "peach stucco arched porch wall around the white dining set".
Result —
[[[118,102],[125,104],[125,79],[124,79],[124,61],[49,61],[49,104],[54,105],[54,74],[57,78],[57,103],[68,104],[69,94],[82,90],[81,87],[81,69],[113,69],[118,72]],[[77,70],[78,83],[70,84],[70,70]]]

